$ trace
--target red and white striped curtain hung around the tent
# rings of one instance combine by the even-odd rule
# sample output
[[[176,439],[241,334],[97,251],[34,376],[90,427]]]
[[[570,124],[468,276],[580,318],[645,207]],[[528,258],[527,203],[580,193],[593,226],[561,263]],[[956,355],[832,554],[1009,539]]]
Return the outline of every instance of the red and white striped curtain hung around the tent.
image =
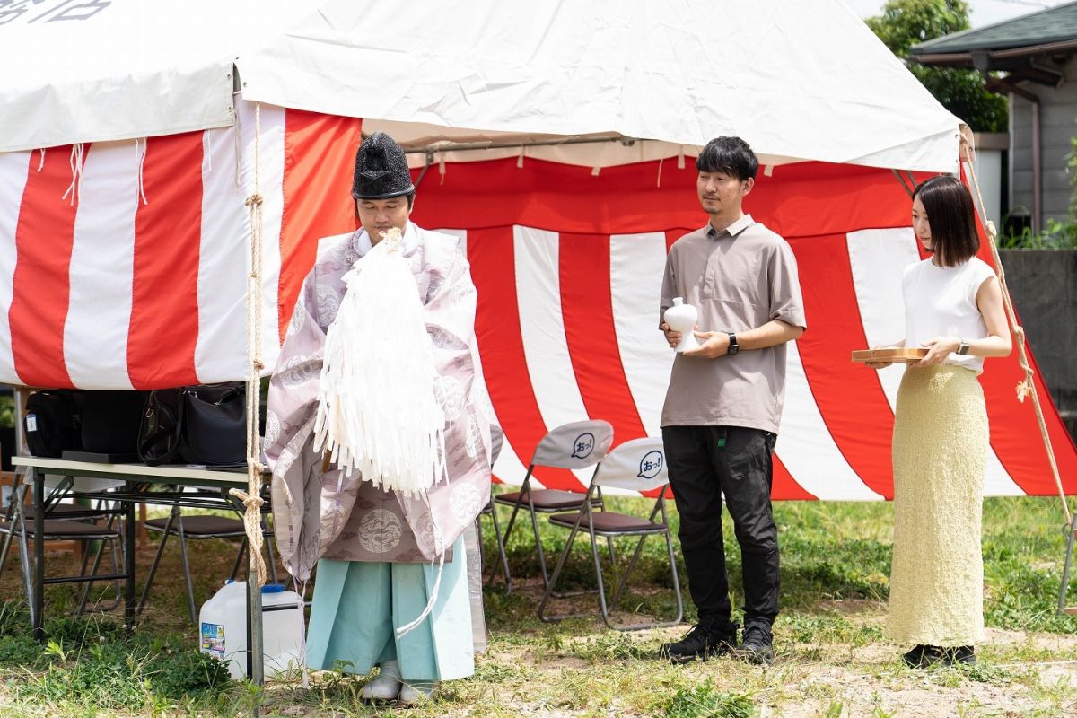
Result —
[[[0,154],[0,380],[149,389],[243,378],[254,131],[240,103],[225,129]],[[356,119],[261,110],[270,365],[317,238],[354,226],[359,131]],[[789,352],[774,496],[890,497],[901,369],[849,356],[904,334],[901,269],[920,258],[908,195],[889,170],[805,163],[760,172],[746,209],[792,244],[809,323]],[[615,444],[659,433],[672,361],[656,328],[662,265],[705,222],[690,159],[432,166],[412,216],[460,236],[472,264],[505,430],[500,480],[520,481],[537,440],[564,422],[605,419]],[[981,256],[991,262],[985,248]],[[1032,406],[1015,398],[1022,376],[1011,356],[981,377],[989,495],[1055,491]],[[1038,377],[1036,389],[1073,492],[1077,451]],[[589,473],[536,478],[579,488]]]

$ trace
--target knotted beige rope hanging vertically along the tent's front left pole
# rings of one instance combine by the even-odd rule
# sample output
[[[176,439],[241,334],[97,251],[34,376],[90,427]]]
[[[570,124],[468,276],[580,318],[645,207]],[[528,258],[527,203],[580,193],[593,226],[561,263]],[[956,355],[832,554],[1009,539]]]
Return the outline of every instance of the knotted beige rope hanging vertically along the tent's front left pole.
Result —
[[[258,586],[265,586],[266,564],[262,558],[262,437],[258,435],[258,408],[262,383],[262,195],[260,194],[258,145],[262,105],[254,105],[254,187],[247,198],[251,222],[251,271],[247,276],[247,491],[229,493],[243,502],[243,527],[247,530],[248,562],[257,572]]]

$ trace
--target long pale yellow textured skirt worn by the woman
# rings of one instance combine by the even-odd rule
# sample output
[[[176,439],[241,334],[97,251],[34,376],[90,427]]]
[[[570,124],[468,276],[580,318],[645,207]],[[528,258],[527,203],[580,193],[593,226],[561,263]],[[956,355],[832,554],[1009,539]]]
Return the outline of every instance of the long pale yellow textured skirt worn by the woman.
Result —
[[[983,390],[957,366],[909,367],[894,420],[894,560],[886,635],[983,639],[980,520],[990,448]]]

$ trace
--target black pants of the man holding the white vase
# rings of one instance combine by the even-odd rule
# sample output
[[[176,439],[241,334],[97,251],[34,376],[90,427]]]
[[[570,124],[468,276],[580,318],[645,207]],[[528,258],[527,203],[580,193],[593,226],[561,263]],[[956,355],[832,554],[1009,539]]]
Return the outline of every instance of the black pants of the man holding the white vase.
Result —
[[[778,615],[778,526],[770,507],[777,435],[741,426],[666,426],[670,487],[681,517],[688,590],[702,624],[729,623],[729,578],[722,536],[725,496],[740,544],[744,623]]]

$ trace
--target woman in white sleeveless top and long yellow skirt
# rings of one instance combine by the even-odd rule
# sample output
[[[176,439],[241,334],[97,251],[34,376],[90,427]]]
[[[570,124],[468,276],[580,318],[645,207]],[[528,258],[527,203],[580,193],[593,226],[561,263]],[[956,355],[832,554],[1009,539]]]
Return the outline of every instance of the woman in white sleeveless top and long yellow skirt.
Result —
[[[906,369],[897,394],[886,634],[913,644],[904,656],[911,666],[971,664],[983,637],[980,516],[990,451],[977,377],[985,356],[1009,354],[1010,336],[995,273],[976,257],[968,189],[952,177],[921,184],[912,229],[932,256],[905,270],[904,346],[928,351]]]

